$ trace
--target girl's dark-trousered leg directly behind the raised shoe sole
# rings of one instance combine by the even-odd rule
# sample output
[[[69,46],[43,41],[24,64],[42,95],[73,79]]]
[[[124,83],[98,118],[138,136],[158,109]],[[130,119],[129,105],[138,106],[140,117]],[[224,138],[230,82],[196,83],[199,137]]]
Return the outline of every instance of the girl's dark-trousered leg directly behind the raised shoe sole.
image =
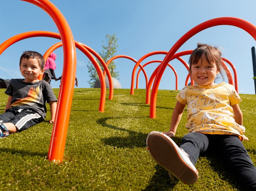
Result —
[[[207,150],[209,146],[209,140],[206,134],[198,132],[190,132],[186,134],[180,144],[180,148],[183,149],[188,155],[191,162],[195,165],[200,153]]]

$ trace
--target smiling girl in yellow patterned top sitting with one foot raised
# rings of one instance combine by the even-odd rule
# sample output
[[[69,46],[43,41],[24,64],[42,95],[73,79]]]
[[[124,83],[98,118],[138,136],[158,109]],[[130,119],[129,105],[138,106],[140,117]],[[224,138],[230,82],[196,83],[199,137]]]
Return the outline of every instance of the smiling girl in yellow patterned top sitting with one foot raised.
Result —
[[[220,50],[198,43],[189,64],[190,76],[197,84],[185,86],[176,96],[170,130],[149,133],[149,153],[169,175],[193,184],[198,179],[194,165],[199,155],[217,151],[240,186],[256,190],[256,168],[242,144],[248,140],[238,106],[242,100],[233,85],[214,83],[216,75],[223,77]],[[175,135],[186,105],[188,133],[178,147],[170,137]]]

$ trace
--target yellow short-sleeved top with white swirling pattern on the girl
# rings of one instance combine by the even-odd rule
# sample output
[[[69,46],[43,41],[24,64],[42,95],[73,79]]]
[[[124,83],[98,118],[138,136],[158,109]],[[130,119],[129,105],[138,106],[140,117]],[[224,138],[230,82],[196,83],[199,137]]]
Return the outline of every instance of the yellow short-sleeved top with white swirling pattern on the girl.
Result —
[[[235,122],[231,107],[242,100],[233,85],[222,82],[211,86],[185,86],[176,99],[187,105],[189,132],[237,135],[243,140],[245,128]]]

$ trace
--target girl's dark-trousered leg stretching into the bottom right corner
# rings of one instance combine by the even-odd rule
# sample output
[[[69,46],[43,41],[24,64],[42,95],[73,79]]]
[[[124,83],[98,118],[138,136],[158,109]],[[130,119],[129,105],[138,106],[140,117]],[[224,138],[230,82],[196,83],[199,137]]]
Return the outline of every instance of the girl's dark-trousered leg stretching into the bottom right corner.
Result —
[[[223,154],[244,190],[256,190],[256,167],[237,136],[223,135]]]

